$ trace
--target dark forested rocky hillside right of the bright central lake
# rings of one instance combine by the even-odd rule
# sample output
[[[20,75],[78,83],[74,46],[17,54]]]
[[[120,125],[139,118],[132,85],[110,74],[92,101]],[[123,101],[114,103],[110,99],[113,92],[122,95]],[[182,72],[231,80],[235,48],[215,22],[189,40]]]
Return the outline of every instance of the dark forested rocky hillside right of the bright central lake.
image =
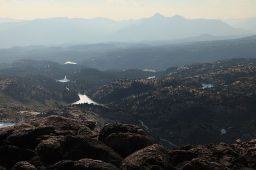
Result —
[[[122,79],[88,95],[131,113],[158,141],[206,144],[250,140],[256,138],[255,64],[256,59],[244,58],[186,65],[166,70],[163,78]]]

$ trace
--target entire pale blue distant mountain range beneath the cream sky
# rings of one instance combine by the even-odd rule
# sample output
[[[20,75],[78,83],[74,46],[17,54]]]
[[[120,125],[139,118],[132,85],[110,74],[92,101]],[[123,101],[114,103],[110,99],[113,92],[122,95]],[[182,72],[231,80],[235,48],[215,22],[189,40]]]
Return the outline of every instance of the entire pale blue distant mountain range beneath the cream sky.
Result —
[[[69,19],[56,17],[0,24],[0,48],[14,45],[56,45],[108,41],[152,41],[195,37],[201,34],[227,36],[253,34],[220,20],[187,20],[179,15],[157,13],[140,20],[113,21],[107,18]]]

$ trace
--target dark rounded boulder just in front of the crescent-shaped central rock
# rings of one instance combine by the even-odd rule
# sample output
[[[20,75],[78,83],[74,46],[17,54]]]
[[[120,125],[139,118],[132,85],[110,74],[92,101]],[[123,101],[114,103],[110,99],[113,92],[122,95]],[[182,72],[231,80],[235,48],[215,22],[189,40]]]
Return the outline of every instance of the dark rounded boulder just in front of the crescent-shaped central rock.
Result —
[[[104,140],[104,143],[123,157],[152,144],[147,136],[137,133],[112,133]]]

